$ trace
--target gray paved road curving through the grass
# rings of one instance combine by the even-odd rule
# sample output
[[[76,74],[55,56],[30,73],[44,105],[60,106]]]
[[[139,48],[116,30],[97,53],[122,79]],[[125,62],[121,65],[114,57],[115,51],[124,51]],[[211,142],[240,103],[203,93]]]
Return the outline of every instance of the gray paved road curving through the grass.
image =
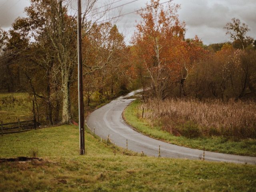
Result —
[[[162,157],[172,158],[188,158],[199,159],[202,157],[203,151],[197,149],[186,148],[162,142],[140,134],[126,124],[122,118],[122,112],[128,104],[134,99],[126,99],[134,95],[138,91],[131,92],[126,96],[121,96],[109,104],[95,110],[88,116],[87,125],[91,131],[95,128],[95,134],[107,139],[110,134],[110,140],[118,146],[126,148],[126,139],[128,139],[128,149],[135,152],[144,152],[148,156],[158,156],[160,152]],[[222,161],[234,163],[256,164],[256,157],[238,156],[230,154],[222,154],[215,152],[205,152],[205,160]]]

